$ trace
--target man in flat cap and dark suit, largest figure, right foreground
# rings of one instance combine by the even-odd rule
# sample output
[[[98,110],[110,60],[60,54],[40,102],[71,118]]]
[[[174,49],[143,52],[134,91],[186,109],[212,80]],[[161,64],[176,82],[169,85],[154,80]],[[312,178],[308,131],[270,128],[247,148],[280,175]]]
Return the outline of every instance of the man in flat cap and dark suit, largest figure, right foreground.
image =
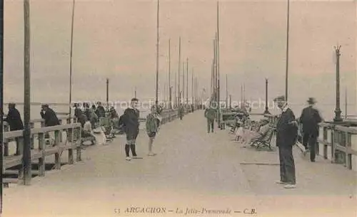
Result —
[[[279,149],[280,160],[280,181],[276,183],[285,184],[286,189],[293,189],[296,187],[293,145],[298,136],[298,125],[285,97],[276,97],[274,101],[282,111],[276,125],[276,146]]]

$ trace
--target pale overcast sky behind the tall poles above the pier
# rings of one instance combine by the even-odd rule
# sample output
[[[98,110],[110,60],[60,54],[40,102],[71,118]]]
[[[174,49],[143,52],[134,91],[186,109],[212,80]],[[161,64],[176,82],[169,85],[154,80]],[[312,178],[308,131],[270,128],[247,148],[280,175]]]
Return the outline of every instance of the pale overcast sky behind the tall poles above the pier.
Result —
[[[156,1],[77,0],[74,21],[73,100],[128,100],[155,96]],[[68,102],[71,1],[31,0],[31,101]],[[341,48],[341,92],[356,101],[356,1],[292,1],[289,98],[334,103],[333,46]],[[159,88],[171,85],[181,58],[188,58],[201,88],[209,90],[216,1],[160,1]],[[285,92],[286,1],[221,1],[221,97],[226,74],[233,100]],[[22,102],[24,18],[22,1],[5,0],[5,101]],[[186,68],[186,67],[185,67]],[[191,87],[191,81],[190,81]],[[190,88],[191,93],[191,88]]]

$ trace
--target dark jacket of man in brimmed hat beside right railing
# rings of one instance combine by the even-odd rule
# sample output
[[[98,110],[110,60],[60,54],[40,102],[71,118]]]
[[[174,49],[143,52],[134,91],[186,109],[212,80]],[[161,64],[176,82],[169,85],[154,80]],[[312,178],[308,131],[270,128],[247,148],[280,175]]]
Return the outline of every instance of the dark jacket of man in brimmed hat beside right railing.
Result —
[[[318,113],[318,110],[313,107],[306,107],[301,112],[299,121],[303,125],[303,132],[309,134],[318,134],[318,123],[321,122],[322,118]]]

